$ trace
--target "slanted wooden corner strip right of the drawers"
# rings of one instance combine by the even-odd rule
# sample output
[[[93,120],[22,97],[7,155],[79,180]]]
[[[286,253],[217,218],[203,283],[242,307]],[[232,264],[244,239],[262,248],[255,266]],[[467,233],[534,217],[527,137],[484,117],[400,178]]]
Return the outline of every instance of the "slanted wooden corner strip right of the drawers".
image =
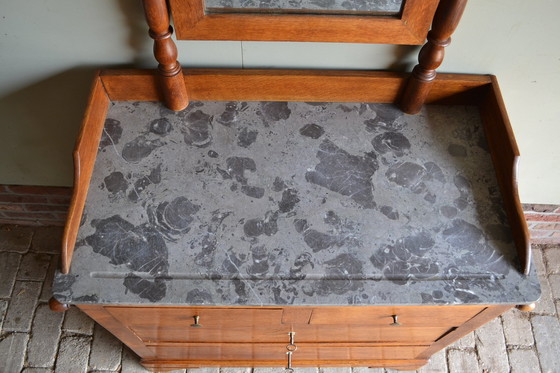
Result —
[[[481,312],[473,316],[469,321],[453,330],[451,333],[446,334],[443,338],[438,339],[434,344],[428,347],[424,352],[417,356],[418,359],[429,359],[430,356],[439,350],[449,346],[451,343],[459,340],[473,330],[500,316],[507,310],[511,309],[513,305],[499,305],[488,306]]]

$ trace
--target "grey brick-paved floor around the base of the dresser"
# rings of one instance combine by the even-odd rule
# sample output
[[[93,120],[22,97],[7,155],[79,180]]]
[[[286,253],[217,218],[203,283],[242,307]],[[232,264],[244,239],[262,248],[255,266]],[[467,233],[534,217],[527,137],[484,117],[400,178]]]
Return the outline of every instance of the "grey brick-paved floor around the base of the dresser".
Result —
[[[48,309],[61,228],[0,226],[0,373],[146,372],[138,358],[75,308]],[[432,357],[419,372],[560,372],[560,246],[534,247],[543,297],[512,310]],[[190,370],[189,370],[190,371]],[[251,373],[251,369],[193,369]],[[254,373],[280,373],[254,369]],[[181,371],[184,372],[184,371]],[[368,368],[305,368],[296,373],[384,373]]]

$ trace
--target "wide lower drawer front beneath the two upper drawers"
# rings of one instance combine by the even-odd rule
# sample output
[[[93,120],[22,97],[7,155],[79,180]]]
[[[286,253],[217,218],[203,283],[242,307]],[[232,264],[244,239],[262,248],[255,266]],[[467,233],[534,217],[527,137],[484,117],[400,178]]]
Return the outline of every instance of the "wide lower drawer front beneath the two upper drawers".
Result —
[[[414,359],[428,346],[379,346],[373,344],[298,344],[293,353],[293,365],[298,361]],[[279,343],[188,343],[180,345],[154,345],[158,359],[170,360],[266,360],[286,364],[286,344]]]

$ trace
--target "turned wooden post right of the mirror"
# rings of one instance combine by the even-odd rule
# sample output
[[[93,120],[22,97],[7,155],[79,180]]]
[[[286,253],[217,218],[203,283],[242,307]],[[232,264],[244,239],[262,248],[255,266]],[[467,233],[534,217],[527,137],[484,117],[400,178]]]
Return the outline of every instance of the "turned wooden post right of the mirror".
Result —
[[[443,62],[445,47],[451,42],[451,34],[457,28],[467,0],[441,0],[437,8],[428,42],[418,55],[418,65],[412,70],[402,100],[401,109],[408,114],[416,114],[422,108],[432,83],[436,69]]]

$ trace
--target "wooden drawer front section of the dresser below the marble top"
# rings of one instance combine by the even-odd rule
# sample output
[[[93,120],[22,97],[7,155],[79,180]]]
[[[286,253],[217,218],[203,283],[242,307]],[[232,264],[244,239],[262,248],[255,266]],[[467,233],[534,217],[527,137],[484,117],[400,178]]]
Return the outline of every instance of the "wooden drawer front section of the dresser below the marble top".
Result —
[[[424,365],[432,353],[457,335],[464,335],[507,307],[80,309],[141,354],[144,366],[156,370],[216,364],[286,366],[291,349],[295,367],[388,366],[410,370]]]

